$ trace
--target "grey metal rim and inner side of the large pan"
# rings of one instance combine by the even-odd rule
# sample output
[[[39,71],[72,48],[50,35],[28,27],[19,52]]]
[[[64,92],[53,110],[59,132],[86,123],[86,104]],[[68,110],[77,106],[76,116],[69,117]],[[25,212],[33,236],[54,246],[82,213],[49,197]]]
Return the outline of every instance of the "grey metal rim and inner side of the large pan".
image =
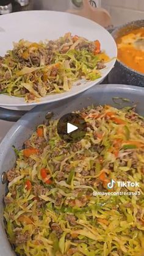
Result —
[[[121,104],[113,102],[113,97],[128,98],[128,101],[121,101]],[[54,118],[59,118],[62,115],[82,109],[91,104],[110,104],[117,108],[122,108],[124,106],[132,106],[137,104],[137,112],[140,115],[144,113],[144,89],[142,87],[135,86],[123,86],[118,84],[113,85],[99,85],[93,87],[77,97],[67,99],[64,101],[59,101],[59,103],[51,103],[38,106],[32,111],[27,112],[26,115],[21,117],[21,119],[13,125],[9,133],[4,137],[0,144],[0,172],[7,171],[12,168],[15,164],[15,153],[13,152],[12,145],[16,148],[22,148],[23,142],[28,139],[35,127],[42,123],[46,114],[49,111],[54,112]],[[2,216],[2,197],[5,194],[5,185],[0,186],[1,194],[1,210],[0,210],[0,256],[15,255],[12,251],[7,236],[5,235],[4,222]]]

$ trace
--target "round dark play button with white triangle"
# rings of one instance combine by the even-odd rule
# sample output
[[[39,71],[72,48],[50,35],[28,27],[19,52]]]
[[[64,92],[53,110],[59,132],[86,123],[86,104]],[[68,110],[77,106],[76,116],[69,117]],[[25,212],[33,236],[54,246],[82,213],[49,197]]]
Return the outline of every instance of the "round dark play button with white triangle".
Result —
[[[59,119],[57,133],[63,141],[81,141],[87,133],[87,123],[80,114],[69,113]]]

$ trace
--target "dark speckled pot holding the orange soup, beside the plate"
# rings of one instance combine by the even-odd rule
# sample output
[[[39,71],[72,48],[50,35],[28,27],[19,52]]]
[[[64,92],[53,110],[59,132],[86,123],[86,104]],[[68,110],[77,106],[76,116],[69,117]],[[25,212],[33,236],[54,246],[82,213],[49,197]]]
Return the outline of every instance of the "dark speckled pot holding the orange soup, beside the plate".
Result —
[[[144,27],[144,20],[137,20],[124,24],[115,29],[112,32],[112,36],[116,39],[139,27]],[[127,67],[120,60],[117,60],[115,67],[109,73],[109,82],[112,84],[131,84],[132,86],[144,87],[144,75]]]

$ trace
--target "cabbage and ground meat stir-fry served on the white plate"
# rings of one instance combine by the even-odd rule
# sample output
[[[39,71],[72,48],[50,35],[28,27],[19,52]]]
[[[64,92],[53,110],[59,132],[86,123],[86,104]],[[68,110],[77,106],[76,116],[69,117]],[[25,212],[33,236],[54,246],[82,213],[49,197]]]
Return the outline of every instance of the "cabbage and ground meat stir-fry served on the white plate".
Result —
[[[0,57],[0,92],[38,101],[49,93],[67,92],[79,79],[100,78],[109,60],[98,40],[71,33],[45,43],[20,40]]]

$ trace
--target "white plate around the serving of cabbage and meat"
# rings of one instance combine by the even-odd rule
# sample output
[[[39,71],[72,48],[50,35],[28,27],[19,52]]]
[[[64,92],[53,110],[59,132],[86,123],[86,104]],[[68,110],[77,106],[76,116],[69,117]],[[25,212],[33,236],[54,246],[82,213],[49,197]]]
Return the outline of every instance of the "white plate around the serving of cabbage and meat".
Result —
[[[57,39],[65,33],[71,32],[88,40],[99,40],[101,48],[106,50],[110,58],[117,57],[117,46],[109,32],[99,24],[82,18],[77,15],[64,12],[52,11],[29,11],[17,12],[0,16],[0,56],[4,56],[8,49],[12,49],[13,42],[18,42],[21,38],[33,42],[39,42],[46,39]],[[107,67],[101,73],[102,76],[96,81],[81,81],[81,86],[73,85],[69,92],[48,95],[40,99],[39,103],[26,103],[24,98],[10,97],[9,95],[0,95],[0,106],[35,106],[37,104],[50,103],[71,97],[84,92],[88,88],[99,84],[110,72],[115,59],[112,59]]]

